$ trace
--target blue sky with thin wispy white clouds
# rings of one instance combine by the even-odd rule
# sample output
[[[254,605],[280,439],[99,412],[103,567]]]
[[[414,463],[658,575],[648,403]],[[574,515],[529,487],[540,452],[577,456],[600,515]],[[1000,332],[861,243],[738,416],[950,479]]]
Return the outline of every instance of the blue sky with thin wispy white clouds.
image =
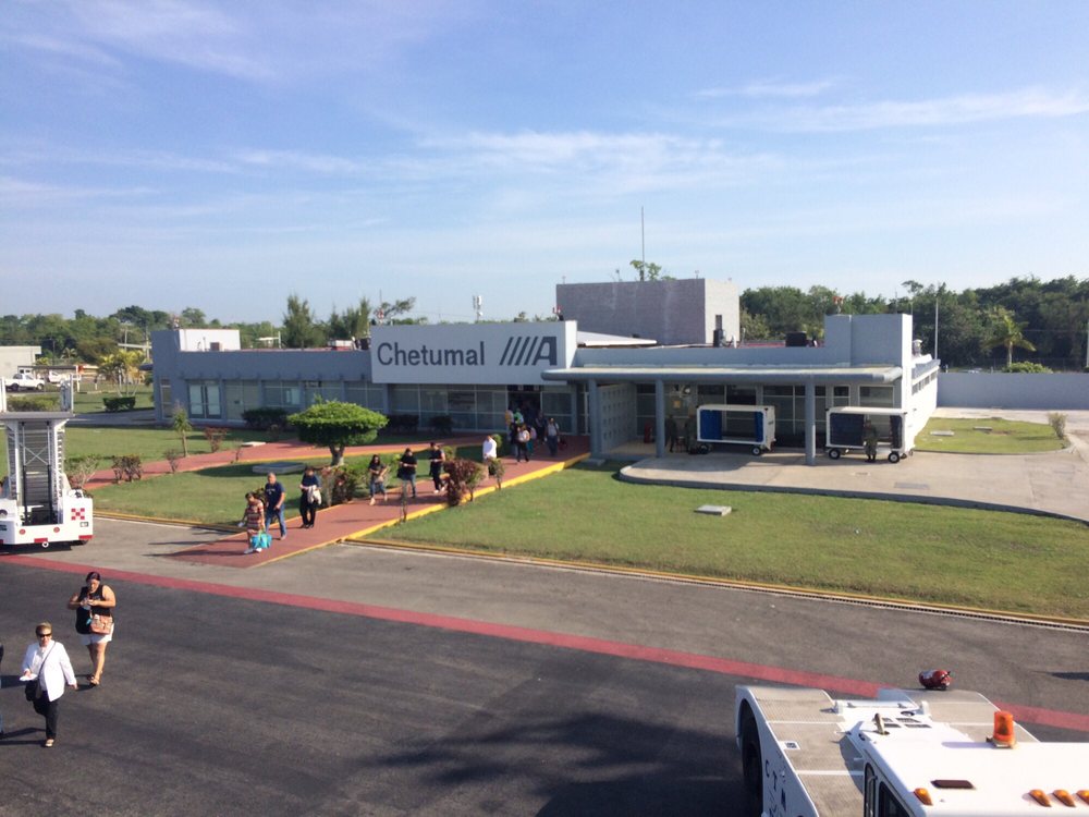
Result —
[[[1089,276],[1089,2],[8,0],[5,314]]]

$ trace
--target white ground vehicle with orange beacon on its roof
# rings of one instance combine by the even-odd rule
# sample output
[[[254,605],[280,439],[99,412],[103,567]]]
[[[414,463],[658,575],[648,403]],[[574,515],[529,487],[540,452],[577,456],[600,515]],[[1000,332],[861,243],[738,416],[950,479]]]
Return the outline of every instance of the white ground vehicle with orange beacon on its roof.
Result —
[[[1089,816],[1089,743],[1041,743],[978,693],[739,686],[735,715],[763,817]]]

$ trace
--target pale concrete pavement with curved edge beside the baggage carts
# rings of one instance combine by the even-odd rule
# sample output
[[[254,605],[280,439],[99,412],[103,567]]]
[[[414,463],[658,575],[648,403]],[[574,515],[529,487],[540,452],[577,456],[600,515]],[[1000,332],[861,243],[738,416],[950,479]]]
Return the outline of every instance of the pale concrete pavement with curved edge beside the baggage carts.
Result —
[[[947,417],[1006,417],[998,410],[942,410]],[[1047,423],[1045,412],[1011,419]],[[1039,415],[1039,416],[1037,416]],[[731,490],[768,490],[951,504],[1060,516],[1089,523],[1089,412],[1067,413],[1070,448],[1042,454],[916,452],[893,465],[860,454],[820,456],[806,465],[802,452],[674,454],[649,458],[621,471],[634,483]]]

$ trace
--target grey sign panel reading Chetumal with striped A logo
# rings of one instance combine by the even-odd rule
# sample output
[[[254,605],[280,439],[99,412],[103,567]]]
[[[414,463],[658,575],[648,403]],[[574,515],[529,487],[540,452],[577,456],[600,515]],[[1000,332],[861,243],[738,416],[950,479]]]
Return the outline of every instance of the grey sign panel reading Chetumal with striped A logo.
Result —
[[[567,336],[571,334],[571,342]],[[574,326],[454,324],[376,327],[375,382],[521,383],[571,364]]]

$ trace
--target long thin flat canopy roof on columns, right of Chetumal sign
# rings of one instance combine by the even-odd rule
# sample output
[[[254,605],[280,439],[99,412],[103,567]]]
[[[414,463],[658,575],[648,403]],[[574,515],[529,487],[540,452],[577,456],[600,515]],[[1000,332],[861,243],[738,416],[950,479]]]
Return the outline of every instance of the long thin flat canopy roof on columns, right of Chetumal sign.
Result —
[[[631,382],[632,380],[680,380],[682,382],[797,383],[822,380],[837,383],[892,383],[904,376],[900,366],[577,366],[548,369],[544,380],[568,382]]]

